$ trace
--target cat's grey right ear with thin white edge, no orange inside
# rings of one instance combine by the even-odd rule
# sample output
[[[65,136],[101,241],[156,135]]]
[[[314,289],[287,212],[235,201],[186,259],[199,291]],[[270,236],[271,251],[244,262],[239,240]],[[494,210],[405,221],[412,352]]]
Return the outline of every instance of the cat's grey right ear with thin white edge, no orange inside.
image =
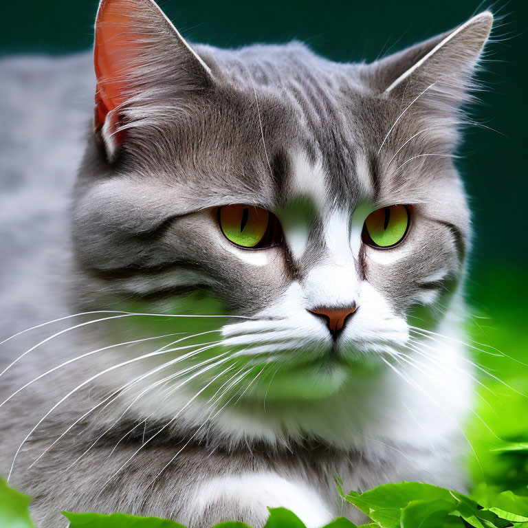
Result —
[[[477,14],[454,30],[434,36],[370,66],[370,80],[386,96],[413,100],[424,91],[458,107],[492,30],[493,15]]]

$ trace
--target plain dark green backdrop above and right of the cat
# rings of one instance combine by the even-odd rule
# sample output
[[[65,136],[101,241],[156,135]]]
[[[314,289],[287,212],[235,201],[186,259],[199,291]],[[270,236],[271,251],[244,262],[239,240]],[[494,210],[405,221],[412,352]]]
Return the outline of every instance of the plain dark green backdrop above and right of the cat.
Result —
[[[3,3],[0,53],[67,53],[91,45],[96,0]],[[461,0],[162,2],[168,17],[191,41],[236,47],[299,39],[336,61],[373,61],[453,28],[488,5]],[[495,131],[468,130],[459,164],[472,196],[476,227],[472,262],[478,274],[485,274],[490,265],[524,271],[528,254],[528,2],[499,1],[492,10],[504,18],[487,48],[481,78],[489,91],[479,94],[483,104],[475,113],[479,122]]]

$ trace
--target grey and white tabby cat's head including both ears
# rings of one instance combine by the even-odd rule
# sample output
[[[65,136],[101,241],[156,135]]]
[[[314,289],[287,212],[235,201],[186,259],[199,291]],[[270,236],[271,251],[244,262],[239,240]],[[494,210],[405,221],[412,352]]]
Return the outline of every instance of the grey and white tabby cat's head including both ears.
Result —
[[[389,368],[417,307],[456,310],[470,222],[453,155],[491,27],[483,12],[340,64],[299,43],[191,47],[153,1],[103,0],[80,303],[191,316],[168,327],[212,332],[219,380],[258,374],[270,398]]]

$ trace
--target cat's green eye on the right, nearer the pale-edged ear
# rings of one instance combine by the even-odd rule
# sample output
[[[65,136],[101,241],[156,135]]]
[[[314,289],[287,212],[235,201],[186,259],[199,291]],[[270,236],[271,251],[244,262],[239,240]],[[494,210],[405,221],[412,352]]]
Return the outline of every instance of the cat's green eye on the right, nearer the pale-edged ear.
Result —
[[[383,207],[371,212],[363,226],[364,243],[373,248],[392,248],[407,234],[409,217],[406,206]]]

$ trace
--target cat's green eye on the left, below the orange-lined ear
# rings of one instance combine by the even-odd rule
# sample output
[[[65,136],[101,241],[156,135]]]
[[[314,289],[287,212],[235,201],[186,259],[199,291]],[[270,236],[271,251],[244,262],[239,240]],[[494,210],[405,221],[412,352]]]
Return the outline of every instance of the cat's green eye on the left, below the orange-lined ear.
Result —
[[[241,248],[263,249],[281,243],[281,228],[270,211],[233,205],[218,209],[218,223],[225,238]]]

